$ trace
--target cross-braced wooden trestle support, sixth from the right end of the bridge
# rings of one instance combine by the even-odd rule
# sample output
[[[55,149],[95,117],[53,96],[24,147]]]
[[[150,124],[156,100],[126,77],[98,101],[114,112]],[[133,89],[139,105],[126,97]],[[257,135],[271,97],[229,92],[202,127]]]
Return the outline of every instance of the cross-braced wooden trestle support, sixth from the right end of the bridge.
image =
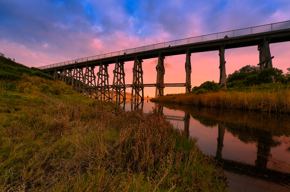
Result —
[[[110,98],[113,100],[115,98],[116,103],[120,104],[126,99],[124,62],[115,62],[115,69],[113,70],[113,75],[114,77]]]

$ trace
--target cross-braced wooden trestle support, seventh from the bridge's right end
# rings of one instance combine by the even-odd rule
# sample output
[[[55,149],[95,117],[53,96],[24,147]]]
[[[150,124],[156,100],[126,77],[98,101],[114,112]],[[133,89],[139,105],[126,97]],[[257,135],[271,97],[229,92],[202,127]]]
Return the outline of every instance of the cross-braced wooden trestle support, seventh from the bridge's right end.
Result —
[[[97,89],[96,89],[96,98],[100,97],[100,100],[107,101],[110,99],[109,93],[109,84],[108,84],[108,72],[107,64],[99,64],[99,70],[97,73]]]

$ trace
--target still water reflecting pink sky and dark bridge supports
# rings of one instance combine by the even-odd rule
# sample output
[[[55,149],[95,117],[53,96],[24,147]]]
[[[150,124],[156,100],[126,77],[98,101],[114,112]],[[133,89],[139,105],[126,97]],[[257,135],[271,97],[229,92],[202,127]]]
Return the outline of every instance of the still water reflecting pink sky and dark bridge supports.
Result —
[[[229,109],[121,104],[126,111],[158,110],[204,154],[223,164],[227,192],[290,192],[290,116]]]

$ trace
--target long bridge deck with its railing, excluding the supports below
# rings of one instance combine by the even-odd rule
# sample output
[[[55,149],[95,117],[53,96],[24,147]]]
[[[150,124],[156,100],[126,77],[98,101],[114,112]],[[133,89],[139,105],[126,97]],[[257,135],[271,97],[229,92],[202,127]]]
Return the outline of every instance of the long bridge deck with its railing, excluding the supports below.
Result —
[[[224,38],[225,36],[226,38]],[[86,65],[98,66],[99,63],[111,64],[115,63],[116,60],[123,62],[132,61],[135,57],[138,59],[155,58],[158,57],[159,53],[163,56],[185,54],[186,50],[189,50],[190,53],[213,51],[218,50],[221,43],[225,45],[225,49],[254,46],[259,45],[266,36],[270,39],[270,43],[290,41],[290,21],[126,49],[46,65],[39,67],[39,69],[42,71],[49,71],[52,69],[63,68],[63,66],[65,66],[65,68],[85,67]]]

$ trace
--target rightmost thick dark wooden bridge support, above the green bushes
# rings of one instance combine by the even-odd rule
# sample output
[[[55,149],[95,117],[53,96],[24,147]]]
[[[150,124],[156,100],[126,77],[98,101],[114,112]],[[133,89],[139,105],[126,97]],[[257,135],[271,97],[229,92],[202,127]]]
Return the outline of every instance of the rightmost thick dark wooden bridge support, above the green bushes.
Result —
[[[259,69],[260,71],[265,68],[272,68],[272,58],[270,53],[269,39],[264,37],[264,40],[261,44],[258,45],[259,51]]]

